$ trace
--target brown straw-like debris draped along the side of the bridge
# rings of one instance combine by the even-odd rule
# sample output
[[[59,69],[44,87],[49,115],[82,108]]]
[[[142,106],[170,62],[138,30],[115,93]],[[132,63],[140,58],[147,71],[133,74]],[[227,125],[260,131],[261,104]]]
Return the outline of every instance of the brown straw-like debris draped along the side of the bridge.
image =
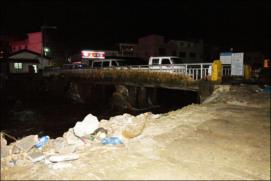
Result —
[[[90,80],[90,81],[108,81],[108,82],[135,82],[135,83],[148,83],[154,85],[190,85],[193,80],[190,76],[185,74],[170,74],[167,72],[154,72],[154,71],[139,71],[131,69],[117,70],[101,69],[92,71],[91,73],[61,73],[56,78],[65,77],[67,80]]]

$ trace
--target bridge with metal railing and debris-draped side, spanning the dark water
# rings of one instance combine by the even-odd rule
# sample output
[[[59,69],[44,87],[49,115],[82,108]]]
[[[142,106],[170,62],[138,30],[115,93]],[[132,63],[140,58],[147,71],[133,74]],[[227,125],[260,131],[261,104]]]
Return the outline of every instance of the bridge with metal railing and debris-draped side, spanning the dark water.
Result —
[[[180,67],[182,65],[183,69]],[[44,76],[59,75],[61,73],[67,80],[80,84],[82,92],[94,92],[100,85],[101,94],[107,92],[108,86],[123,86],[129,91],[128,101],[138,101],[142,106],[148,99],[156,100],[157,89],[176,89],[198,92],[200,101],[211,95],[216,80],[200,81],[199,79],[209,75],[208,71],[213,63],[199,64],[165,64],[165,65],[134,65],[120,67],[101,67],[86,69],[55,69],[44,70]],[[220,64],[221,65],[221,64]],[[221,75],[229,75],[230,65],[223,65]],[[210,72],[210,71],[209,71]],[[210,79],[209,79],[210,80]],[[90,97],[89,95],[88,97]],[[102,95],[101,95],[102,96]]]

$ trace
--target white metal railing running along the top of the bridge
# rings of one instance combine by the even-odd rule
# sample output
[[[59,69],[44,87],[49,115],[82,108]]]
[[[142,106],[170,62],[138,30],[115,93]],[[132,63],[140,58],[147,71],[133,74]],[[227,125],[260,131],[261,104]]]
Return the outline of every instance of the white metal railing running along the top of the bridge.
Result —
[[[119,67],[103,67],[107,68],[116,68],[139,71],[154,71],[154,72],[169,72],[173,74],[185,74],[189,75],[193,79],[200,79],[208,75],[209,66],[213,63],[190,63],[190,64],[164,64],[164,65],[130,65],[130,66],[119,66]],[[100,67],[97,68],[86,68],[86,69],[58,69],[58,70],[43,70],[43,76],[49,77],[50,75],[59,75],[62,72],[76,72],[76,73],[88,73],[92,71],[100,70]],[[231,65],[222,66],[222,76],[230,75]]]

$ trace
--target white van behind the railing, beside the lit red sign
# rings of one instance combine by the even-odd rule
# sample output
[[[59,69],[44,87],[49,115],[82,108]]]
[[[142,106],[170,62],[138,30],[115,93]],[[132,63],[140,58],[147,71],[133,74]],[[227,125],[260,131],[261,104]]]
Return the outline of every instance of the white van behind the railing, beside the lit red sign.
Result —
[[[107,67],[119,67],[119,66],[129,66],[131,65],[129,61],[123,59],[103,59],[94,60],[91,67],[96,69],[107,68]],[[118,68],[117,68],[118,69]]]

